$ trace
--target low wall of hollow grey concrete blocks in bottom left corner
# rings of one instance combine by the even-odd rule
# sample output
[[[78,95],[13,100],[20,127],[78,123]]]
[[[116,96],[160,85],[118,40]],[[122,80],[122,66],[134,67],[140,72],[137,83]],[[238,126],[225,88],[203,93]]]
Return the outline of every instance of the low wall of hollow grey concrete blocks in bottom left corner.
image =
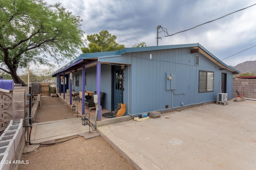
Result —
[[[15,153],[20,148],[22,139],[23,119],[11,120],[4,133],[0,136],[0,161],[12,162]],[[0,164],[0,169],[9,169],[10,164]]]

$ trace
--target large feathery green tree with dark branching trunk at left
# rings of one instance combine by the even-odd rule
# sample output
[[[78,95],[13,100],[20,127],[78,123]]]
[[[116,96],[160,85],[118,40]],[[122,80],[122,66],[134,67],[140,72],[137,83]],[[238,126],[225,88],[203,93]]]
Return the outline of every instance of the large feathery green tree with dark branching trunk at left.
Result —
[[[83,46],[79,16],[72,15],[60,3],[44,0],[0,1],[0,70],[15,83],[24,82],[17,69],[27,65],[59,64],[73,59]]]

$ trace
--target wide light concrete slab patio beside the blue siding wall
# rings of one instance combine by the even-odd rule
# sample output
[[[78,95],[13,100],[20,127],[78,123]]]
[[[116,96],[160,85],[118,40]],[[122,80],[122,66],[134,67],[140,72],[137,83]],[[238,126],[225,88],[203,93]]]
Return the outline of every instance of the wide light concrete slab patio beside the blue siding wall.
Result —
[[[138,169],[256,169],[255,101],[197,106],[97,131]]]

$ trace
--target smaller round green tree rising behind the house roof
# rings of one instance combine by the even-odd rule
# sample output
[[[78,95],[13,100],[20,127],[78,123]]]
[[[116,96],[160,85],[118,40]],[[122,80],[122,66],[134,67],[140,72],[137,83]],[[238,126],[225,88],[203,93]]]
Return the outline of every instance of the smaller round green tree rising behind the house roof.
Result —
[[[116,51],[124,49],[124,45],[116,43],[116,36],[111,35],[107,30],[100,31],[99,34],[87,35],[90,42],[88,47],[82,47],[83,53],[95,53],[103,51]]]

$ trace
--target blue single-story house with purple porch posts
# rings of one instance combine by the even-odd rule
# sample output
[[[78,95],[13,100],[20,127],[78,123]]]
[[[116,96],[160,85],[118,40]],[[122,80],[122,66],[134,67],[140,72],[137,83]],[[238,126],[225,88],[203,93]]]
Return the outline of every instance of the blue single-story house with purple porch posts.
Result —
[[[122,102],[126,115],[137,116],[214,102],[218,93],[232,98],[232,75],[238,73],[196,43],[82,54],[52,76],[60,92],[105,92],[103,108],[113,111]],[[61,76],[72,81],[64,87]]]

